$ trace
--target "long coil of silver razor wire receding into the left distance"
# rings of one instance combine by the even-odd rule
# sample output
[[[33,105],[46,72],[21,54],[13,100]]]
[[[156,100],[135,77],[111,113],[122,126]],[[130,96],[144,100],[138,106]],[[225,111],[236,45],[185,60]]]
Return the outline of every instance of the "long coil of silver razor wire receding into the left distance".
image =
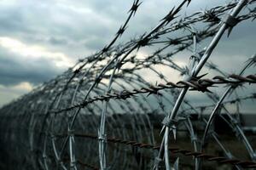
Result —
[[[256,168],[252,139],[237,119],[242,114],[239,105],[256,99],[256,94],[237,93],[240,87],[252,88],[256,83],[254,73],[245,75],[255,66],[256,55],[248,57],[236,74],[227,74],[208,61],[224,31],[229,36],[243,20],[256,18],[255,0],[234,1],[182,17],[179,13],[189,8],[190,1],[170,8],[141,37],[115,45],[140,8],[142,2],[135,0],[124,24],[101,51],[4,105],[0,142],[5,168],[209,169],[215,166],[212,161],[236,169]],[[183,33],[172,37],[179,31]],[[151,54],[141,54],[143,48]],[[189,64],[180,66],[175,57],[185,51],[190,53]],[[218,76],[198,76],[202,67]],[[185,78],[173,81],[172,71]],[[225,89],[221,97],[213,92],[216,88]],[[185,98],[188,90],[212,104],[194,105]],[[230,111],[233,104],[236,111]],[[239,157],[224,144],[223,135],[212,128],[216,117],[230,127],[228,133],[244,146],[247,156]],[[180,138],[191,141],[189,148]],[[222,155],[207,153],[211,152],[207,144],[215,144]]]

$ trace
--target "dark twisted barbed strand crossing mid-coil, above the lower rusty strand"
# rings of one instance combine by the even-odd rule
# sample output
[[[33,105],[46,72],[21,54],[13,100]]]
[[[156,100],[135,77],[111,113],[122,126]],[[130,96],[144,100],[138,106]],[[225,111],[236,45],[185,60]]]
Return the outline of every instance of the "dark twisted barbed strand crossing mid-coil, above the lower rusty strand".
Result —
[[[242,77],[239,75],[230,75],[230,77],[213,77],[212,79],[199,79],[199,80],[190,80],[190,81],[180,81],[177,83],[174,82],[167,82],[166,84],[158,84],[158,85],[151,85],[148,88],[140,88],[140,89],[132,89],[129,90],[123,90],[119,93],[114,94],[106,94],[106,95],[100,95],[95,96],[92,99],[88,99],[84,101],[82,104],[79,105],[73,105],[69,108],[66,108],[61,111],[53,111],[53,113],[60,113],[62,111],[70,111],[77,107],[84,107],[92,102],[96,101],[106,101],[109,99],[127,99],[131,98],[132,96],[136,94],[158,94],[160,90],[163,89],[169,89],[169,88],[185,88],[188,87],[190,90],[197,90],[200,92],[211,92],[208,88],[213,87],[216,84],[230,84],[230,85],[241,85],[241,83],[256,83],[256,75],[248,75],[247,77]],[[160,94],[159,94],[160,95]]]

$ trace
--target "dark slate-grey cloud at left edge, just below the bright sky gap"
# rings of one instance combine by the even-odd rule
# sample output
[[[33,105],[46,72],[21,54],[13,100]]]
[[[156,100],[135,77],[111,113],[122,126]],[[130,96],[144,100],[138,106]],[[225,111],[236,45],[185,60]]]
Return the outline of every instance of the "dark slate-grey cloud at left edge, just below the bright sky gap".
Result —
[[[3,85],[15,85],[20,82],[31,82],[36,85],[63,71],[56,68],[49,59],[24,60],[16,54],[9,53],[5,48],[0,48],[0,52],[0,84]]]

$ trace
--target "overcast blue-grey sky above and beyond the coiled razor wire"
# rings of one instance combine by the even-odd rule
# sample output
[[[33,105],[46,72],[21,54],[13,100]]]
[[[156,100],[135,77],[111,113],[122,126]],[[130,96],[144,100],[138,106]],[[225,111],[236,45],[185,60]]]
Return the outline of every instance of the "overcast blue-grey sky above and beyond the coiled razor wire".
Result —
[[[177,2],[144,0],[122,40],[149,31]],[[194,0],[186,13],[223,3]],[[132,0],[0,0],[0,106],[103,48],[131,4]],[[255,53],[255,30],[251,21],[237,26],[229,41],[224,38],[215,61],[229,54],[241,64]]]

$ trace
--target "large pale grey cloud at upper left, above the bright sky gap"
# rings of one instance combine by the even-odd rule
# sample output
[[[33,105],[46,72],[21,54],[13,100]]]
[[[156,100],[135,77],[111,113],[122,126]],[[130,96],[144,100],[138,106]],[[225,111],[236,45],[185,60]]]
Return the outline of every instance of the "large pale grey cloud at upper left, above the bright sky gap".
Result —
[[[80,54],[83,54],[82,49],[86,53],[84,42],[92,37],[101,38],[101,42],[111,38],[116,22],[109,25],[102,20],[112,22],[113,19],[104,15],[96,16],[96,11],[91,15],[79,14],[67,7],[65,3],[59,5],[54,1],[25,1],[13,6],[2,6],[0,36],[14,37],[28,44],[44,45],[51,49],[63,48],[67,53],[70,51],[67,48],[77,48],[76,51],[81,51]],[[86,3],[82,7],[85,8]]]

